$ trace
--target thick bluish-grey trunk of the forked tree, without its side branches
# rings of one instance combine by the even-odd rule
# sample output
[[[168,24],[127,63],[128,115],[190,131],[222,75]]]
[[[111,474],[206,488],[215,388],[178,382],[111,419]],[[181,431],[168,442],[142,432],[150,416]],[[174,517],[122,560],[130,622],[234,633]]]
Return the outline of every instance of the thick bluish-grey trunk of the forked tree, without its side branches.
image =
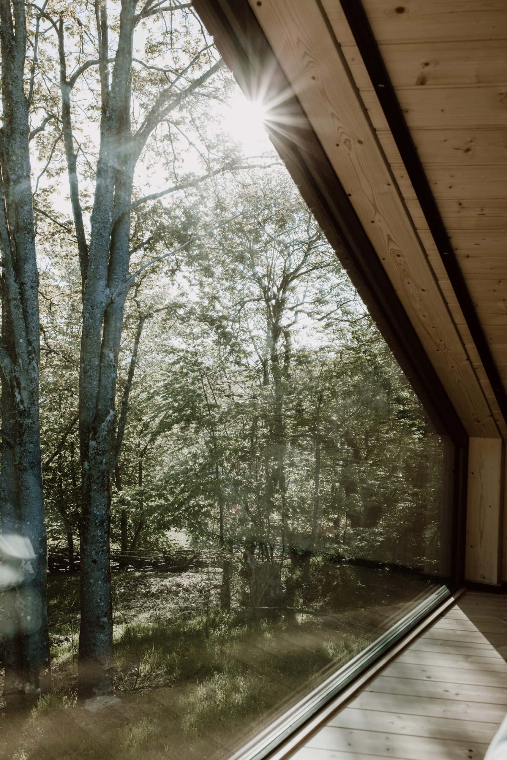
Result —
[[[81,625],[78,694],[112,691],[112,591],[109,535],[110,475],[115,439],[116,381],[128,279],[130,214],[135,160],[130,128],[135,3],[123,0],[116,63],[102,79],[103,114],[90,255],[83,297],[80,372],[82,472]],[[106,46],[106,40],[102,40]],[[105,48],[106,49],[106,48]],[[107,56],[107,52],[104,52]],[[120,215],[122,214],[122,215]]]

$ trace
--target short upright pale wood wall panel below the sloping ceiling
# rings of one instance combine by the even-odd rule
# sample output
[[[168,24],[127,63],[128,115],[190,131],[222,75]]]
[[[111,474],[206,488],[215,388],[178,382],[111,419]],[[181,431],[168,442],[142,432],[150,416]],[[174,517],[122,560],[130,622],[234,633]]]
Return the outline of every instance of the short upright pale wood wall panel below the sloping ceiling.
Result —
[[[468,448],[465,578],[501,581],[505,450],[499,439],[471,438]]]

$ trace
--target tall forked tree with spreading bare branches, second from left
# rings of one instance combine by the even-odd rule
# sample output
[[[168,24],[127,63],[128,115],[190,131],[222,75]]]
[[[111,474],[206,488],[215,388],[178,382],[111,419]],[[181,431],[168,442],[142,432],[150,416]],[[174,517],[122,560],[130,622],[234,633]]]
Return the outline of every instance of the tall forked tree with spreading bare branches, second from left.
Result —
[[[95,4],[95,32],[91,33],[87,8],[52,11],[38,8],[56,36],[59,57],[59,102],[55,93],[53,107],[59,110],[59,129],[65,146],[70,200],[74,218],[82,280],[82,332],[80,358],[80,451],[81,451],[81,631],[79,648],[79,691],[82,695],[105,693],[112,687],[112,606],[109,572],[110,473],[116,439],[116,383],[119,350],[128,291],[149,262],[132,272],[129,265],[135,254],[157,243],[167,250],[160,230],[144,239],[148,224],[132,226],[141,207],[236,166],[235,160],[219,163],[202,176],[182,179],[176,185],[145,195],[135,195],[135,171],[147,142],[160,125],[172,125],[173,114],[192,100],[223,65],[213,59],[211,46],[197,49],[195,40],[188,49],[174,52],[175,67],[161,69],[151,65],[160,43],[151,39],[145,45],[147,60],[135,58],[135,30],[147,18],[183,12],[189,5],[154,5],[148,0],[141,8],[135,0],[122,0],[119,16],[106,4]],[[114,16],[111,33],[110,17]],[[89,31],[83,33],[87,25]],[[166,30],[162,46],[173,46],[173,32]],[[110,39],[116,36],[112,54]],[[192,35],[191,35],[192,36]],[[48,38],[49,39],[49,38]],[[78,40],[78,51],[71,42]],[[49,46],[49,42],[47,42]],[[182,52],[185,55],[182,55]],[[182,58],[185,62],[182,62]],[[137,68],[141,65],[141,70]],[[74,67],[73,69],[71,67]],[[90,230],[81,201],[78,142],[74,135],[74,87],[81,87],[84,74],[91,74],[90,98],[100,103],[97,125],[97,150],[90,172],[93,202]],[[68,74],[68,71],[72,71]],[[141,73],[143,72],[143,73]],[[197,75],[195,75],[197,74]],[[192,78],[193,77],[193,78]],[[96,89],[95,83],[97,84]],[[147,87],[147,84],[156,85]],[[150,95],[147,97],[147,93]],[[153,93],[153,94],[151,94]],[[136,117],[132,107],[135,103]],[[173,126],[178,128],[178,119]],[[181,131],[181,130],[180,130]],[[89,161],[89,158],[87,157]],[[180,215],[181,216],[181,215]],[[172,230],[171,238],[180,244],[188,236],[188,221]],[[136,240],[138,238],[138,241]],[[186,244],[186,243],[185,243]],[[154,261],[167,255],[162,252]]]

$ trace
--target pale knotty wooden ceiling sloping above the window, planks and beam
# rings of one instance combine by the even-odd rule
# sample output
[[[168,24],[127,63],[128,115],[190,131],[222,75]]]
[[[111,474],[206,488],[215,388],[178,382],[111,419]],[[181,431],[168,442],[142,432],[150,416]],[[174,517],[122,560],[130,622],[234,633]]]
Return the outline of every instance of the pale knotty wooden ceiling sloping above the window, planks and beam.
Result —
[[[507,439],[340,3],[249,2],[467,432]],[[363,5],[507,387],[507,2]]]

